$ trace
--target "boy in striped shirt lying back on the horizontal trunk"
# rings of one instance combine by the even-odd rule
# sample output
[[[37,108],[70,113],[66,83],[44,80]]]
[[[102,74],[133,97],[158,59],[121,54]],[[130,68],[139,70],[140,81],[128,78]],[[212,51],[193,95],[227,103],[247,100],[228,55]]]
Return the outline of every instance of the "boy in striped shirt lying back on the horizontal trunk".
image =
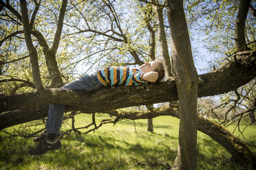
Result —
[[[74,80],[61,88],[76,91],[92,91],[104,86],[138,86],[146,82],[160,82],[164,78],[164,66],[160,60],[145,62],[139,69],[127,66],[111,66],[107,69],[96,71],[91,75],[85,75]],[[36,147],[30,149],[30,155],[41,155],[46,151],[55,150],[61,147],[59,130],[63,121],[64,105],[50,105],[46,131],[41,136],[34,138],[39,142]]]

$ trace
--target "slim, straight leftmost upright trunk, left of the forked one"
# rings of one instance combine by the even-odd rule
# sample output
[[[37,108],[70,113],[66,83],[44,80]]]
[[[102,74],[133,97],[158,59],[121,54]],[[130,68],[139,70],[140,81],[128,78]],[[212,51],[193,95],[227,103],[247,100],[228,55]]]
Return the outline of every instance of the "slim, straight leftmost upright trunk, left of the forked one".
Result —
[[[36,49],[34,48],[31,34],[30,34],[30,23],[28,20],[27,2],[25,0],[21,0],[20,3],[21,3],[23,32],[25,36],[25,43],[28,47],[28,52],[30,53],[30,61],[32,64],[32,75],[34,80],[34,86],[36,87],[36,90],[41,90],[43,89],[43,84],[41,82],[37,52],[36,52]]]

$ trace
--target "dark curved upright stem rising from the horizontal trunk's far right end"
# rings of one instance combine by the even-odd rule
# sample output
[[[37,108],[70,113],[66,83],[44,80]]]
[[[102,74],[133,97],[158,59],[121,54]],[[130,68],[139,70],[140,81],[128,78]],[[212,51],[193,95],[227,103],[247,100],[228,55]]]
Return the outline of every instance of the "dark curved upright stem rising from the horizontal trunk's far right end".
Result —
[[[248,47],[246,46],[246,38],[244,31],[249,5],[250,0],[240,1],[237,19],[235,21],[235,45],[237,46],[237,50],[239,51],[249,50]]]

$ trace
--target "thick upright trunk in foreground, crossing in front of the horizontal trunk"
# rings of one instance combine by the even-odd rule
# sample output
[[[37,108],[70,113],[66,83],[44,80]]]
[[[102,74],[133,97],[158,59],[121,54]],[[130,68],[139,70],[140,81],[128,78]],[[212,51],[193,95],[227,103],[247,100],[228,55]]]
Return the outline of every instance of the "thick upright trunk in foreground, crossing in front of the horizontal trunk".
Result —
[[[198,73],[193,63],[182,0],[169,0],[173,75],[178,91],[180,130],[178,156],[172,169],[197,169]]]

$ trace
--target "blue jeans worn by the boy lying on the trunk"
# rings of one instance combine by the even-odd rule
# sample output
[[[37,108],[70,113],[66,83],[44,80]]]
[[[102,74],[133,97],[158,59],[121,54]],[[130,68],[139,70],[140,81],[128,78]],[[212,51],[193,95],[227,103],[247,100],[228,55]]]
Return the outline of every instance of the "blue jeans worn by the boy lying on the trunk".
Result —
[[[61,89],[70,89],[76,91],[92,91],[99,88],[103,88],[104,85],[98,80],[97,74],[92,73],[79,77],[78,80],[74,80],[69,84],[61,87]],[[51,104],[47,114],[46,121],[46,133],[47,134],[58,134],[61,129],[63,121],[65,106],[63,104]]]

